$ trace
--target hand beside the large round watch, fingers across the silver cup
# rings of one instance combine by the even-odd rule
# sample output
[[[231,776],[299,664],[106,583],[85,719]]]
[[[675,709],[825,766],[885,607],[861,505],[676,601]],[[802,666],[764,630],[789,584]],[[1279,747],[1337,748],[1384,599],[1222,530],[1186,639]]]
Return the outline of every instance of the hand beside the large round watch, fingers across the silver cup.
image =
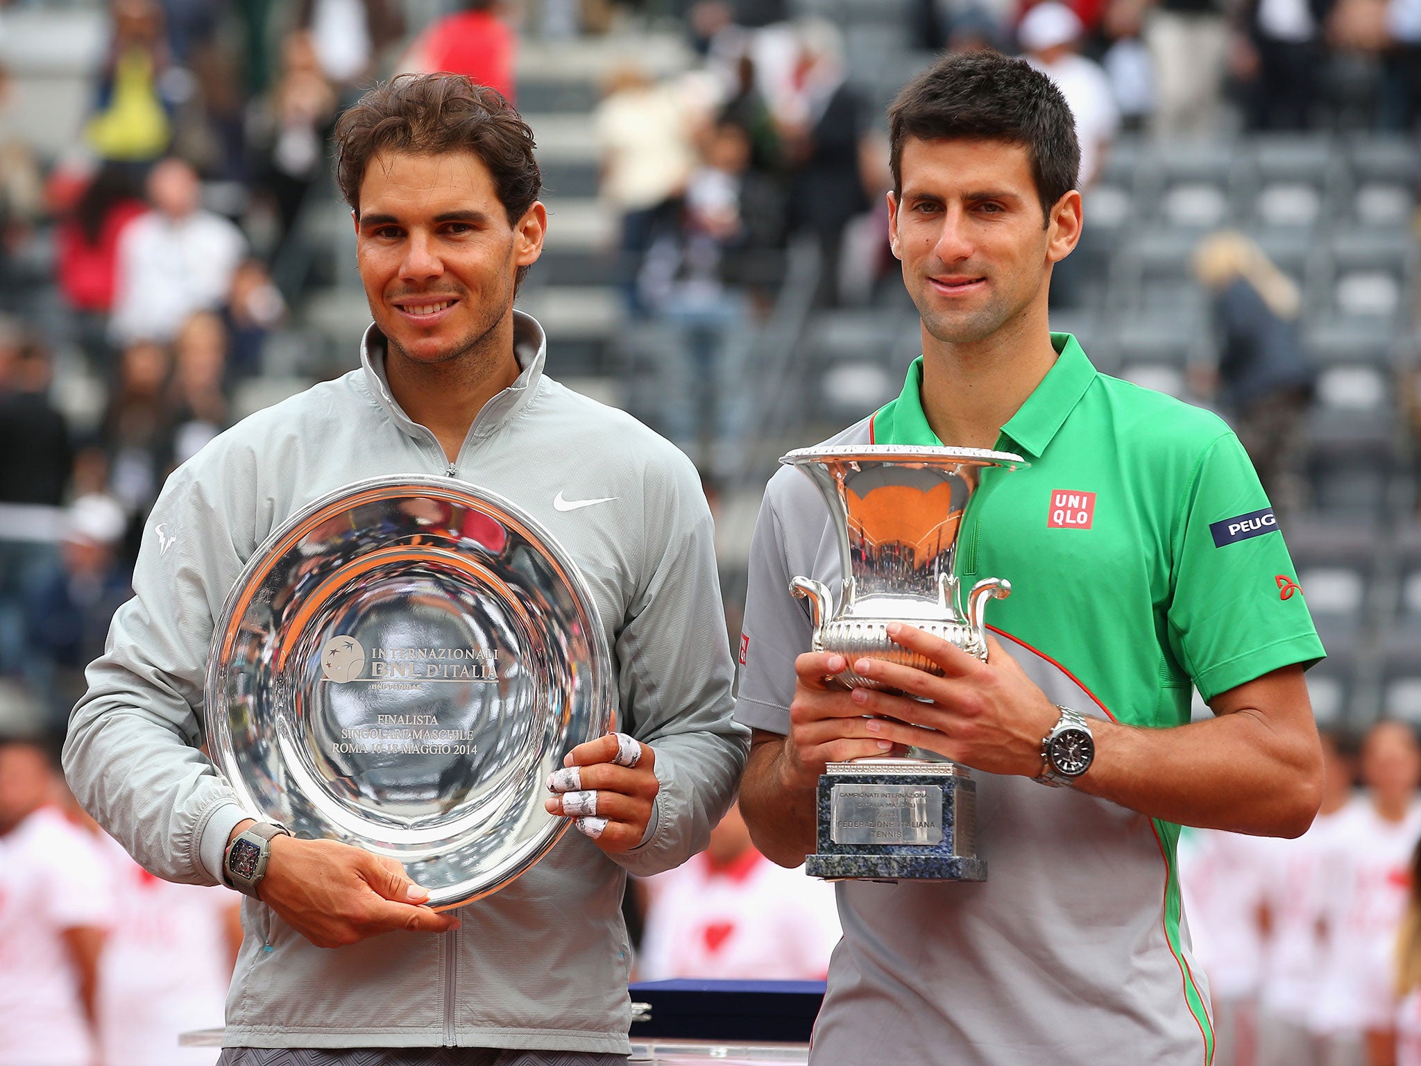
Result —
[[[1060,709],[995,637],[988,635],[983,662],[912,625],[892,623],[888,635],[936,662],[944,677],[882,659],[853,662],[863,677],[908,694],[853,691],[864,714],[875,716],[867,726],[871,733],[988,773],[1040,775],[1042,738],[1056,726]]]

